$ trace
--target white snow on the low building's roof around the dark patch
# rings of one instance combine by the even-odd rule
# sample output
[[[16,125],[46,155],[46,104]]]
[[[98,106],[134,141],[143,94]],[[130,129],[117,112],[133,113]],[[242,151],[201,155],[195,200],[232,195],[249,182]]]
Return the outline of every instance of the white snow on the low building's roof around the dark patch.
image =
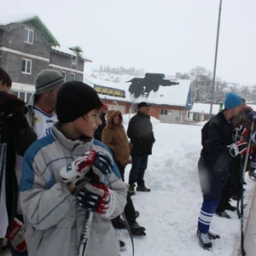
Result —
[[[189,95],[190,80],[179,79],[179,84],[172,86],[161,86],[158,91],[150,91],[149,96],[139,96],[136,99],[131,96],[129,87],[131,83],[113,83],[110,81],[96,79],[92,77],[84,77],[84,83],[94,87],[94,84],[103,87],[125,90],[125,98],[118,96],[99,95],[102,99],[115,100],[122,102],[149,102],[156,105],[169,105],[185,107]]]

